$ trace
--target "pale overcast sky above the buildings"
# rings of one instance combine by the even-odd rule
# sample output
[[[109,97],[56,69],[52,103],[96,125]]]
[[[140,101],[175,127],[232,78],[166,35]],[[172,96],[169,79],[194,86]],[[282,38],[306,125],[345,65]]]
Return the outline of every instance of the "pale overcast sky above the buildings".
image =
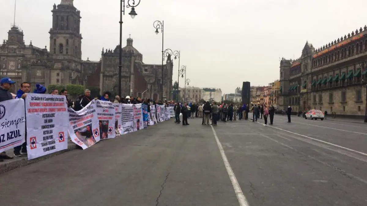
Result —
[[[15,0],[0,1],[0,38],[6,39]],[[26,44],[49,48],[52,5],[60,2],[17,0],[15,21]],[[99,60],[102,47],[119,44],[119,0],[74,0],[74,6],[82,16],[83,59]],[[128,8],[123,16],[123,45],[131,34],[143,62],[160,64],[161,34],[153,22],[164,20],[164,47],[181,51],[190,85],[233,93],[243,81],[279,79],[279,58],[298,58],[306,40],[319,48],[363,27],[366,7],[366,0],[142,0],[135,19]],[[173,81],[177,70],[178,61]]]

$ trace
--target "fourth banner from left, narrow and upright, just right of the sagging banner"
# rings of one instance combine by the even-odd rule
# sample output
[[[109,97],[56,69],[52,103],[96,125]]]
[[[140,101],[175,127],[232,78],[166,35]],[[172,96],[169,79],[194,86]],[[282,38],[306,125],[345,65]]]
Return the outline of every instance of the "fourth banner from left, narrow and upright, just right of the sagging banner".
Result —
[[[112,102],[96,100],[101,139],[115,138],[115,107]]]

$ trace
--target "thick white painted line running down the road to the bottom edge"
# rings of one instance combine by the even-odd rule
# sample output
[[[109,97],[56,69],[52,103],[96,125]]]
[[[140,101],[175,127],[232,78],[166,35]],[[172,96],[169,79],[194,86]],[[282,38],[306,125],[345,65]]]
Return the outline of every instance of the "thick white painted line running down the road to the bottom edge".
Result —
[[[226,167],[229,179],[232,182],[233,188],[235,189],[237,200],[240,203],[240,206],[250,206],[247,202],[247,199],[246,199],[245,195],[243,194],[243,192],[241,190],[240,184],[237,181],[235,173],[233,173],[233,170],[232,170],[232,168],[229,164],[229,161],[227,159],[227,156],[224,152],[223,146],[222,146],[221,142],[218,139],[217,133],[215,132],[213,126],[212,125],[210,125],[210,126],[211,126],[211,130],[213,130],[215,141],[217,141],[219,152],[221,152],[222,159],[223,159],[224,165]]]

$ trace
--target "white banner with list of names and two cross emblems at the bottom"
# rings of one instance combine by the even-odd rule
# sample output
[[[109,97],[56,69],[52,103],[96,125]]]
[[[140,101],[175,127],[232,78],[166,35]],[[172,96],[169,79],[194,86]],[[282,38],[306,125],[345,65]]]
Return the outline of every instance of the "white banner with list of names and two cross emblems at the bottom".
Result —
[[[28,159],[66,150],[69,128],[66,97],[28,93],[25,103]]]

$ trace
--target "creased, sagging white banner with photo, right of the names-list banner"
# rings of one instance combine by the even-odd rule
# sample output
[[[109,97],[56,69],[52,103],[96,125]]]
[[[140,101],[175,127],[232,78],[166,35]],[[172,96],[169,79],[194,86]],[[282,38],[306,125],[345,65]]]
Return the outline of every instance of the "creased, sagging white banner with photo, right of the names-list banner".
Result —
[[[69,136],[73,143],[84,149],[94,145],[100,140],[99,124],[95,100],[79,111],[68,108],[69,111]]]

